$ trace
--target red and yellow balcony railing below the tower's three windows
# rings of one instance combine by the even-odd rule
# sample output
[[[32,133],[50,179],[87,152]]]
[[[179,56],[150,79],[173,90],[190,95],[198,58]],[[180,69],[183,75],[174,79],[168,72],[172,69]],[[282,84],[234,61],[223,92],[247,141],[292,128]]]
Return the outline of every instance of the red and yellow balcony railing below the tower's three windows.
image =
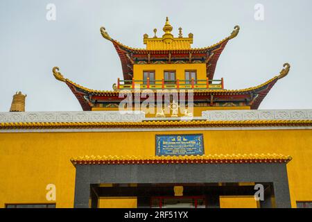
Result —
[[[223,78],[220,80],[120,80],[118,78],[117,89],[223,89]]]

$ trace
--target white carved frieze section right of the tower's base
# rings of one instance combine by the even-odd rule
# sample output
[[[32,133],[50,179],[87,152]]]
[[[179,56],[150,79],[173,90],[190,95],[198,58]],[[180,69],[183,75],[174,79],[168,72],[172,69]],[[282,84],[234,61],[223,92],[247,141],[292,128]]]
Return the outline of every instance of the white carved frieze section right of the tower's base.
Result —
[[[312,119],[312,110],[209,110],[207,120],[305,120]]]

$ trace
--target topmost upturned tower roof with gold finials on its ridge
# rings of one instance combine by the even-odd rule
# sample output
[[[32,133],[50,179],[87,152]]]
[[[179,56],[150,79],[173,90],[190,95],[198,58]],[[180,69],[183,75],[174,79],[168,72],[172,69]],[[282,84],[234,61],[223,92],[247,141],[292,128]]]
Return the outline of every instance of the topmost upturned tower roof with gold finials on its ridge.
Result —
[[[106,40],[110,40],[119,55],[121,66],[123,69],[123,78],[125,80],[132,79],[133,65],[135,64],[166,64],[166,63],[205,63],[207,68],[207,78],[214,78],[216,63],[222,53],[225,45],[229,40],[236,37],[239,33],[239,26],[234,27],[234,31],[220,42],[211,46],[202,48],[192,48],[193,34],[189,33],[188,37],[182,37],[182,28],[179,28],[179,36],[173,37],[171,31],[173,27],[166,18],[162,37],[157,37],[156,28],[155,35],[148,37],[144,34],[144,44],[146,49],[136,49],[126,46],[114,40],[104,27],[101,27],[101,34]],[[159,63],[160,62],[160,63]]]

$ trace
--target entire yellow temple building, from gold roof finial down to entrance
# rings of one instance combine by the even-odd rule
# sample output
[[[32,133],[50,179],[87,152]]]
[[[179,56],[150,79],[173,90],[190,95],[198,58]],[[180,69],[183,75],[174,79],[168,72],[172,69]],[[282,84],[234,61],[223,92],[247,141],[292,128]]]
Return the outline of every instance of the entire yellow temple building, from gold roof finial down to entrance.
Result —
[[[54,67],[83,111],[0,112],[0,207],[311,206],[312,110],[258,110],[291,66],[247,89],[214,77],[239,29],[193,48],[167,17],[136,49],[102,27],[123,72],[112,89]]]

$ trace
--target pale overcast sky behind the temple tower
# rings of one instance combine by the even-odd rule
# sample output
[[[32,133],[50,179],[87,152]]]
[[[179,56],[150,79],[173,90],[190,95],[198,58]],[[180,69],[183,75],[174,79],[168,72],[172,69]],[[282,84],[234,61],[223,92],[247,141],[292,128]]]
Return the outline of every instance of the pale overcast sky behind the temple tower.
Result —
[[[55,4],[56,20],[46,19]],[[264,6],[264,20],[254,6]],[[51,69],[91,89],[111,90],[122,78],[121,62],[100,27],[125,45],[144,48],[143,35],[162,35],[166,16],[173,26],[193,33],[193,47],[210,46],[241,27],[221,54],[214,78],[225,88],[242,89],[279,74],[259,109],[312,108],[312,1],[96,1],[0,0],[0,112],[10,109],[12,95],[27,94],[26,111],[82,110]]]

